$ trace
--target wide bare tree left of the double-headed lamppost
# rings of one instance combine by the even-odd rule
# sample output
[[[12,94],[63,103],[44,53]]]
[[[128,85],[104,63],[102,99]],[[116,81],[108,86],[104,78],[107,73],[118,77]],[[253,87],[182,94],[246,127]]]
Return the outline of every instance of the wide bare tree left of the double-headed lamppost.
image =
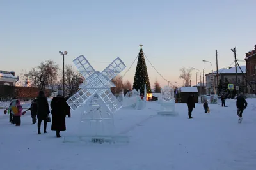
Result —
[[[40,90],[46,87],[52,87],[57,81],[59,66],[52,60],[41,62],[39,66],[32,68],[29,73],[24,74],[31,81],[33,87]]]

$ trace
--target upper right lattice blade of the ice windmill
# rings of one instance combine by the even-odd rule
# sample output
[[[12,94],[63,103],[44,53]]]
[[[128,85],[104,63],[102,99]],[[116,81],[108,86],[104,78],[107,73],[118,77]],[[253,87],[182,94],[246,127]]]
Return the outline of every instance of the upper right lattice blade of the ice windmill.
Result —
[[[112,80],[117,76],[117,74],[121,73],[125,69],[124,62],[117,57],[111,64],[109,64],[104,71],[102,71],[102,74],[106,76],[109,80]]]

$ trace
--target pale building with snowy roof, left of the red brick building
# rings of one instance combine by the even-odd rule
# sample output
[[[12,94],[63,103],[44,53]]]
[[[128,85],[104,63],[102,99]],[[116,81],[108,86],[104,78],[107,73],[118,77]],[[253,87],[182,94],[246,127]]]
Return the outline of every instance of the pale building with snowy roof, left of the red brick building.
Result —
[[[246,74],[246,66],[240,66],[241,69],[237,66],[237,85],[240,87],[240,89],[246,89],[246,80],[244,78],[244,74]],[[217,92],[217,88],[219,85],[219,82],[217,82],[217,71],[212,73],[205,74],[205,81],[206,81],[206,94],[212,94],[214,93],[214,84]],[[214,79],[213,79],[214,78]],[[228,80],[230,84],[236,85],[236,67],[230,67],[228,69],[219,69],[218,70],[218,80],[222,81],[222,83],[225,82],[225,80]]]

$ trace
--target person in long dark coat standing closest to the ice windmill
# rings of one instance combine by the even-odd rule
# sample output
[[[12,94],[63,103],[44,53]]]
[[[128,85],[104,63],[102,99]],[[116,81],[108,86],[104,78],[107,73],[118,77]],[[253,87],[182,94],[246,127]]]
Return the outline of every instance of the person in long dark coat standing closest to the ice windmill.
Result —
[[[60,131],[66,130],[66,109],[67,103],[62,96],[62,91],[58,90],[58,95],[51,101],[52,108],[52,131],[56,131],[57,138],[60,138]]]

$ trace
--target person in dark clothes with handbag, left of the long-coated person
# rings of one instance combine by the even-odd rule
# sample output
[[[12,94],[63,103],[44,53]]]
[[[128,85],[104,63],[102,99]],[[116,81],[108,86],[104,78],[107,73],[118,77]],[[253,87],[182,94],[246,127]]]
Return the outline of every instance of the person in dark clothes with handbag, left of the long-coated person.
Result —
[[[42,120],[44,121],[44,133],[47,133],[46,128],[47,128],[47,117],[49,116],[50,110],[49,110],[49,104],[47,101],[47,98],[44,95],[43,91],[39,92],[39,95],[36,99],[37,101],[37,119],[38,119],[38,134],[41,134],[41,122]]]

